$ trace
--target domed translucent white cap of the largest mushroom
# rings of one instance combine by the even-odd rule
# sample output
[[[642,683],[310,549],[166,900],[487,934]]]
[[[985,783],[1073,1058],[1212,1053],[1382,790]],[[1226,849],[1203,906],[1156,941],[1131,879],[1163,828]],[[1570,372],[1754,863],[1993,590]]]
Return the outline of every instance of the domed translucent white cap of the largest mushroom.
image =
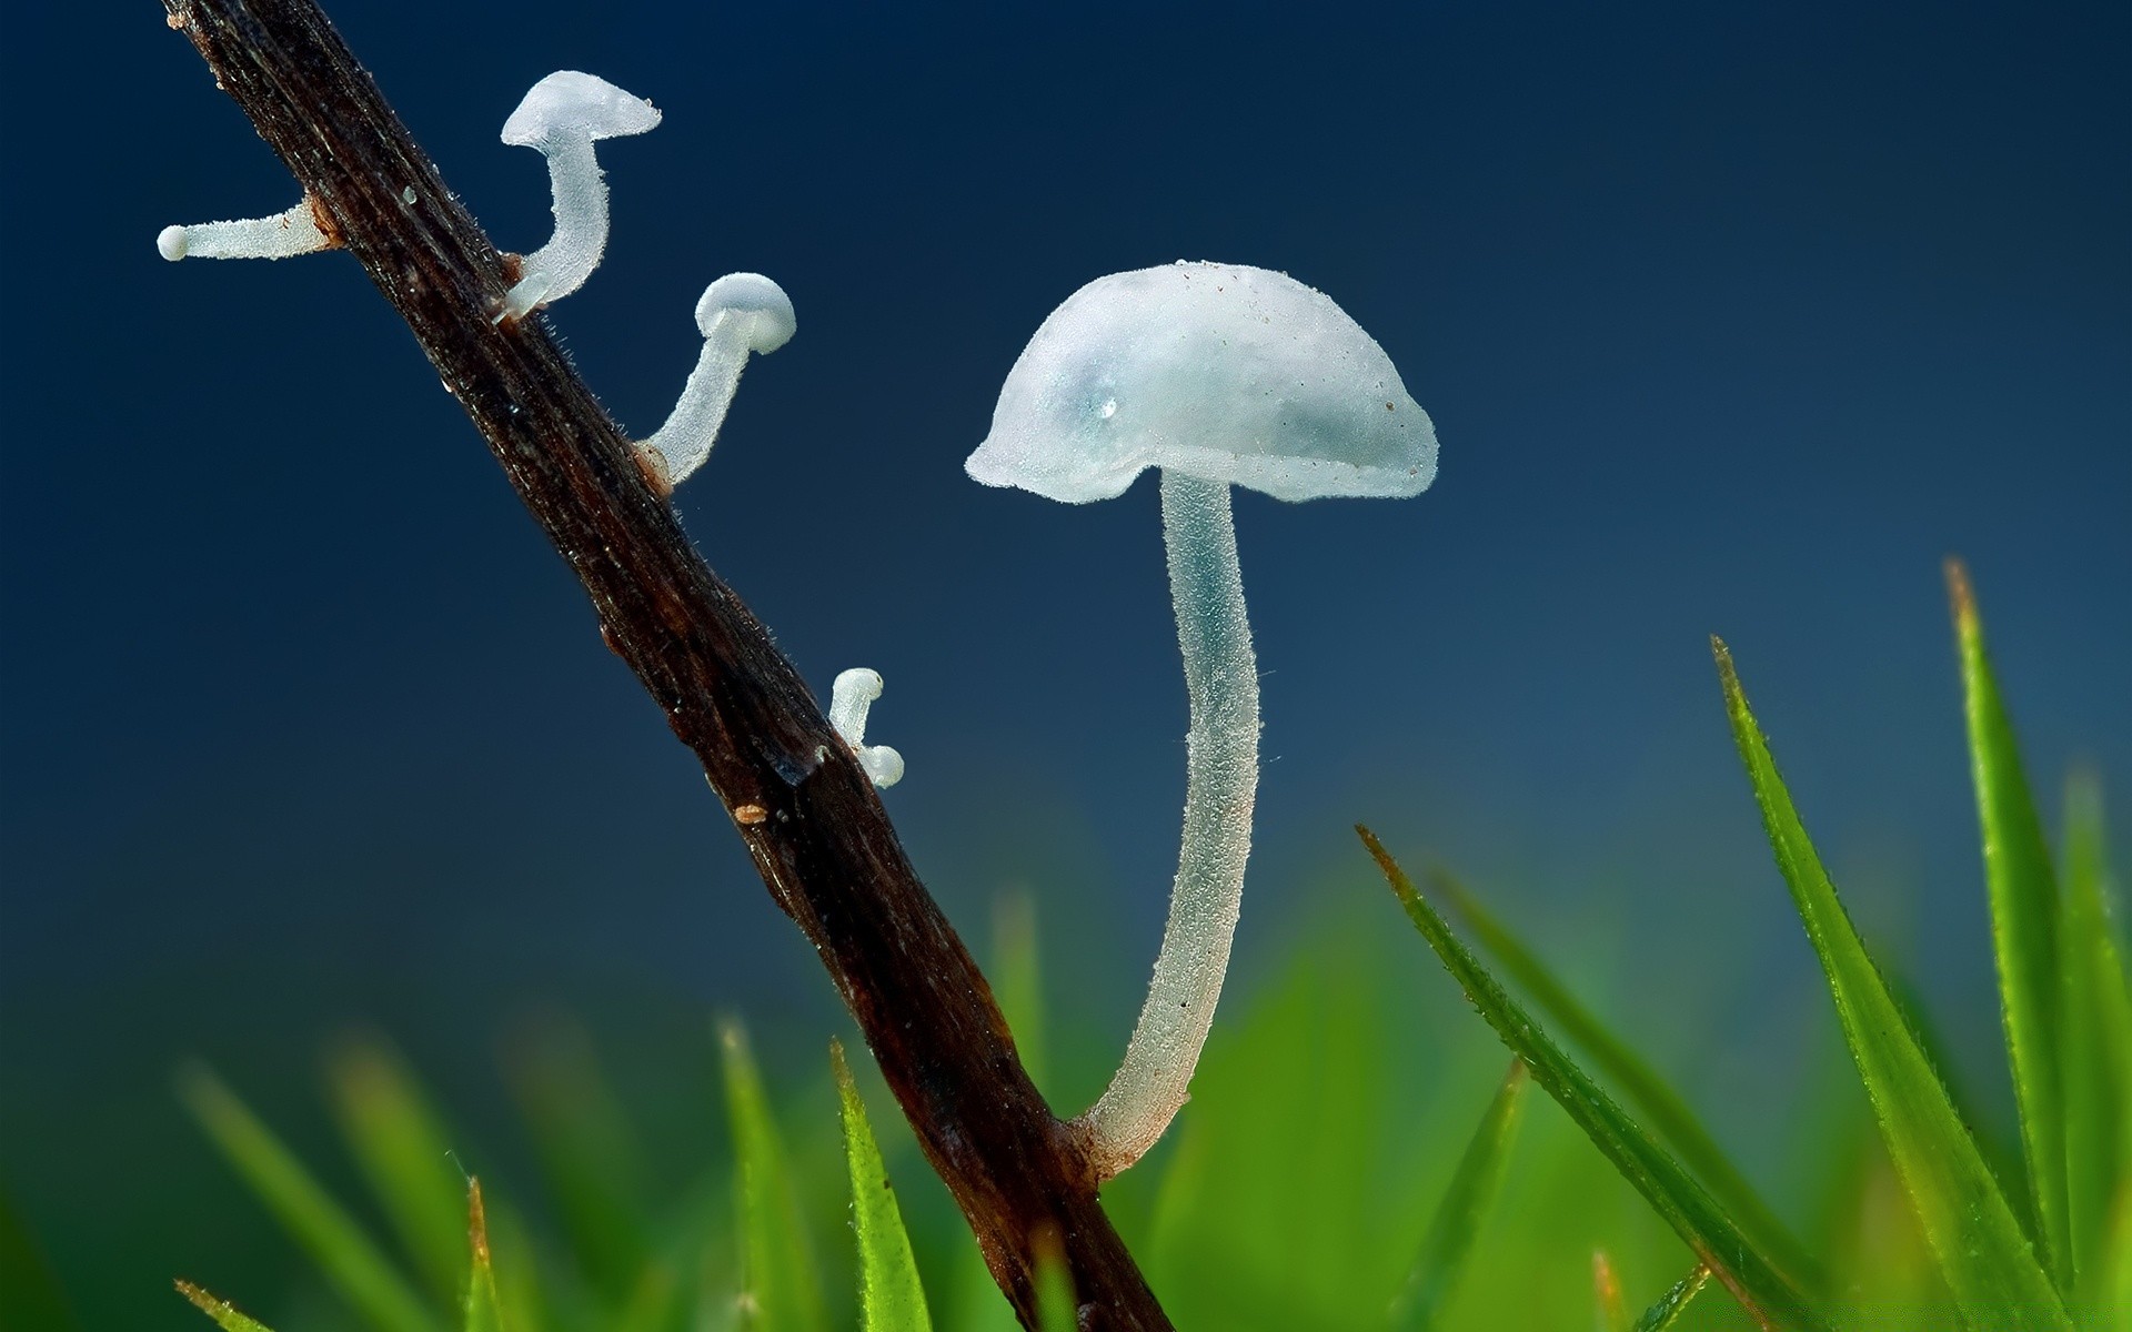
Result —
[[[1324,292],[1243,264],[1098,277],[1043,322],[964,469],[1062,503],[1147,467],[1275,499],[1405,497],[1437,433],[1392,360]]]

